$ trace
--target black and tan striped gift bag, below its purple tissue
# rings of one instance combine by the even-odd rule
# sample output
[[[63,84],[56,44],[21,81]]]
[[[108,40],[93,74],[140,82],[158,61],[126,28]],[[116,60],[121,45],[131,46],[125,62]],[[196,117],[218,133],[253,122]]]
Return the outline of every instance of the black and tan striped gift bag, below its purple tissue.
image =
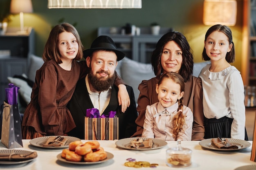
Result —
[[[85,117],[85,140],[115,140],[118,132],[118,117]]]

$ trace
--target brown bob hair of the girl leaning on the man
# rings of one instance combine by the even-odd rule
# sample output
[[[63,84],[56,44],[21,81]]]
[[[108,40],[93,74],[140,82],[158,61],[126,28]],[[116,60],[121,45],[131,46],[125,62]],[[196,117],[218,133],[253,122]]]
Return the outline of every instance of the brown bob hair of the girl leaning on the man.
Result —
[[[48,40],[45,44],[45,49],[43,51],[43,60],[54,60],[56,63],[61,64],[61,55],[58,50],[58,35],[63,32],[69,32],[74,34],[78,44],[78,53],[74,60],[81,60],[83,58],[83,44],[80,40],[79,33],[75,27],[69,23],[61,23],[52,29],[49,34]]]

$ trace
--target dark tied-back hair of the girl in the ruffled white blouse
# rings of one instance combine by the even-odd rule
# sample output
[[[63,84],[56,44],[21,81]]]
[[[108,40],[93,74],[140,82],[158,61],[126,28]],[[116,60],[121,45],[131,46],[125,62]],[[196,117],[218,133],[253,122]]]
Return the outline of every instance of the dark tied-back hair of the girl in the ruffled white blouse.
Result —
[[[227,62],[229,62],[229,63],[234,62],[235,61],[235,45],[234,45],[234,42],[233,42],[231,29],[226,25],[221,25],[221,24],[213,25],[207,30],[207,32],[205,34],[204,42],[206,42],[208,36],[214,31],[219,31],[219,32],[222,32],[225,35],[227,35],[227,37],[229,39],[229,44],[233,44],[233,46],[231,48],[231,51],[227,52],[225,58],[226,58]],[[210,57],[208,57],[208,55],[206,54],[206,49],[205,48],[204,48],[203,53],[202,53],[202,59],[205,60],[205,61],[211,60]]]

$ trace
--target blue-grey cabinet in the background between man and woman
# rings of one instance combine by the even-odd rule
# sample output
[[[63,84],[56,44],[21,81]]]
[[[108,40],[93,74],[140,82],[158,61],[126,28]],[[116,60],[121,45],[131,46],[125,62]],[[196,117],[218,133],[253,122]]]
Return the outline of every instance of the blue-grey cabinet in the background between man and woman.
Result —
[[[159,35],[152,35],[150,27],[140,27],[140,35],[121,35],[121,27],[117,27],[116,33],[110,33],[111,27],[99,27],[98,36],[108,35],[115,42],[117,49],[126,54],[126,57],[143,63],[151,62],[151,53],[155,49],[158,40],[171,28],[161,28]]]

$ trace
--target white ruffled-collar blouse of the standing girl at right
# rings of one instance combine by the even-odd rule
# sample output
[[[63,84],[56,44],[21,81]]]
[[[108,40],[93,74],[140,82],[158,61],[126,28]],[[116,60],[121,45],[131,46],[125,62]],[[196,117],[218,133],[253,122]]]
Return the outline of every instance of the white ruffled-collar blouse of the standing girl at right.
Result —
[[[203,87],[204,116],[208,119],[233,118],[231,138],[245,139],[244,85],[240,72],[229,66],[220,72],[210,72],[207,64],[199,75]]]

